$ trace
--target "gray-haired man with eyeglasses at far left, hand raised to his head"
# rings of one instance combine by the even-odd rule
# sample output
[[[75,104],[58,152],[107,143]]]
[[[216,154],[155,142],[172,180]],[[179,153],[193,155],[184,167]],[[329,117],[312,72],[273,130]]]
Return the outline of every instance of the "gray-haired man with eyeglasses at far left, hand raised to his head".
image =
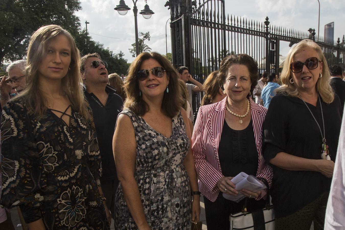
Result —
[[[18,60],[11,63],[7,68],[8,77],[4,76],[0,81],[0,104],[2,107],[15,96],[26,88],[25,79],[26,60]]]

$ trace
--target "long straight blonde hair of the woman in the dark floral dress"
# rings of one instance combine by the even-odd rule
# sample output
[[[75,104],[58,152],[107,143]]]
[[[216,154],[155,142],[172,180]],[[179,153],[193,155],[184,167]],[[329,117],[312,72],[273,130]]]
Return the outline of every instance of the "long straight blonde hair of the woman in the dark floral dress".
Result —
[[[79,50],[71,34],[57,25],[42,26],[32,34],[27,53],[27,86],[19,96],[24,98],[30,114],[40,116],[46,111],[48,102],[39,88],[38,69],[46,57],[49,44],[61,34],[66,36],[71,45],[71,63],[66,76],[61,80],[61,87],[73,109],[89,119],[90,113],[81,88]]]

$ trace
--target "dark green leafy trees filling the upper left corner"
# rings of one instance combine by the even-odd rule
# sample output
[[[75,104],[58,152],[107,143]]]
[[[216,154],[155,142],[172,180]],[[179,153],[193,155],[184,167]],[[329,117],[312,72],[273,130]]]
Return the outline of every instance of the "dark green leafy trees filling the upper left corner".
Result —
[[[126,74],[128,69],[124,53],[114,54],[103,44],[95,42],[81,30],[79,18],[74,14],[81,10],[79,0],[3,0],[0,4],[0,63],[15,61],[26,56],[31,34],[43,25],[58,24],[75,38],[81,56],[99,53],[108,63],[108,71]]]

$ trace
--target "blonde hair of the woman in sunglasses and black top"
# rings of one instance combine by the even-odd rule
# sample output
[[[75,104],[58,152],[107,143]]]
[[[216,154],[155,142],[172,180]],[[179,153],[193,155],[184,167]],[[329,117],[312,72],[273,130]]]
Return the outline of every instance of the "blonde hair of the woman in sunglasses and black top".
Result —
[[[314,49],[319,56],[317,58],[323,62],[322,78],[319,78],[316,82],[316,92],[320,94],[324,102],[329,104],[334,100],[334,93],[330,85],[331,74],[329,73],[327,61],[322,52],[321,47],[319,47],[318,44],[309,39],[305,39],[303,41],[298,42],[296,46],[290,49],[285,59],[282,74],[280,75],[280,78],[282,80],[282,86],[277,88],[276,92],[286,96],[297,97],[297,87],[290,82],[290,79],[292,78],[290,63],[292,62],[292,59],[295,56],[295,54],[304,48]]]

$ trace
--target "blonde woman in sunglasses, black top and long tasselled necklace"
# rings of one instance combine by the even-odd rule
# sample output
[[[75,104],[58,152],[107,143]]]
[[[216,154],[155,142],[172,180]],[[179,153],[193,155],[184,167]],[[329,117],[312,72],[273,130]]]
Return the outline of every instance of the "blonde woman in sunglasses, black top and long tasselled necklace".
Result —
[[[339,130],[341,105],[329,84],[321,48],[312,40],[293,47],[283,85],[264,122],[264,157],[273,169],[276,229],[323,229]]]

